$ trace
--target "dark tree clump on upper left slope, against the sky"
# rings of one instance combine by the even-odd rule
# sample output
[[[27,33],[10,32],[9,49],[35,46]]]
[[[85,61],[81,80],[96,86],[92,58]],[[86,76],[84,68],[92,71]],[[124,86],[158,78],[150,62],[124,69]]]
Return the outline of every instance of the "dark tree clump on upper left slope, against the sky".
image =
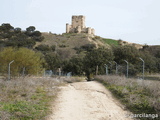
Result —
[[[21,28],[14,28],[10,24],[0,26],[0,47],[27,47],[33,48],[36,42],[41,42],[44,37],[41,32],[35,31],[34,26],[26,28],[27,31],[21,31]]]

